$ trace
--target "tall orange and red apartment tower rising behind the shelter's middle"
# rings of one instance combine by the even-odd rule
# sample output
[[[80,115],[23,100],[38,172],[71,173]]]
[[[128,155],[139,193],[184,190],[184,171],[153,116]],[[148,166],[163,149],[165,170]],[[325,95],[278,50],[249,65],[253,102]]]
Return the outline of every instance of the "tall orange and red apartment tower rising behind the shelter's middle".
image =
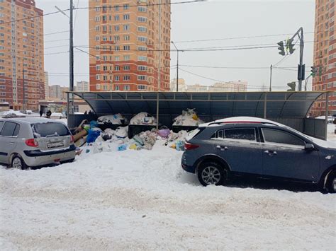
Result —
[[[169,91],[170,23],[170,0],[90,0],[90,91]]]

